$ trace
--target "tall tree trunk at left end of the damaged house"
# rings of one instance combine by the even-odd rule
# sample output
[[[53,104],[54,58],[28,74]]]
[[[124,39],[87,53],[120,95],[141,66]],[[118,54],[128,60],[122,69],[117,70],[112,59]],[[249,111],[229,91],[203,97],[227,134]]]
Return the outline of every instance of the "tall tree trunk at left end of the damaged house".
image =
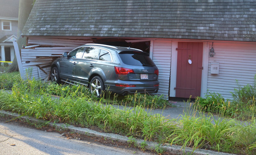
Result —
[[[32,10],[32,7],[33,7],[33,0],[20,0],[20,3],[19,3],[19,20],[18,20],[18,34],[17,34],[17,44],[18,44],[18,47],[19,47],[19,51],[20,51],[22,45],[26,45],[27,38],[26,37],[22,38],[20,36],[20,34],[21,34],[21,32],[24,28],[24,25],[26,24],[26,21],[29,17],[29,14]],[[18,58],[18,59],[20,59],[20,58]],[[19,71],[19,68],[18,68],[16,55],[15,55],[15,52],[14,52],[14,59],[12,61],[11,66],[7,70],[7,72],[15,72],[15,71]]]

